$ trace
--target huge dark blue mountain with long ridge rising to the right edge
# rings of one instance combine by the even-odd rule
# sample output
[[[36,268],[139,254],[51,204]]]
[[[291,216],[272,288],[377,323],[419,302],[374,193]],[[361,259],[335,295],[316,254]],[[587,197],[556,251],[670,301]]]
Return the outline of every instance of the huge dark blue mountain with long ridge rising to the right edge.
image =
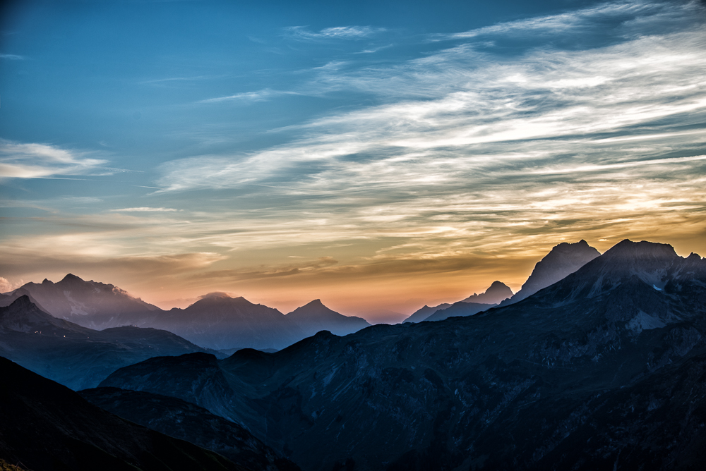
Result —
[[[625,240],[472,317],[152,358],[102,386],[201,405],[306,471],[689,469],[706,445],[706,260]]]

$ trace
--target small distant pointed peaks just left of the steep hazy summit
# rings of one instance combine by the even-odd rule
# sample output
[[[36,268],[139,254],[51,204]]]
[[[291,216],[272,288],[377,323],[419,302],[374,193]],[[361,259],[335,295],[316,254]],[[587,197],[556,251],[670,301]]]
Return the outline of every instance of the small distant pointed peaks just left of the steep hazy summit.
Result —
[[[444,303],[434,307],[425,305],[407,317],[405,322],[443,321],[449,317],[472,316],[498,305],[512,295],[513,291],[505,283],[493,281],[493,284],[484,293],[473,293],[465,300],[453,304]]]

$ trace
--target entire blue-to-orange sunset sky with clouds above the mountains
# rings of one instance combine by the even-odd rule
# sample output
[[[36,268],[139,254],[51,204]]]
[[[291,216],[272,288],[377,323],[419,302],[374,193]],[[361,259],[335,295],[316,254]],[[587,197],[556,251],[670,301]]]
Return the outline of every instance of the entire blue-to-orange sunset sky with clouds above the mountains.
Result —
[[[0,291],[373,322],[561,242],[706,255],[700,1],[16,1]]]

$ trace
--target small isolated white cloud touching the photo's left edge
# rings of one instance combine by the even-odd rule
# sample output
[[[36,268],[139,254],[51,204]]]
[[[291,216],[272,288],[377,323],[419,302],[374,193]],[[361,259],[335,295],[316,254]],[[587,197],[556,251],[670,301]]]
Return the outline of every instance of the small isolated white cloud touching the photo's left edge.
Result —
[[[104,169],[107,161],[88,157],[86,152],[53,145],[0,140],[0,178],[52,178],[86,175]]]

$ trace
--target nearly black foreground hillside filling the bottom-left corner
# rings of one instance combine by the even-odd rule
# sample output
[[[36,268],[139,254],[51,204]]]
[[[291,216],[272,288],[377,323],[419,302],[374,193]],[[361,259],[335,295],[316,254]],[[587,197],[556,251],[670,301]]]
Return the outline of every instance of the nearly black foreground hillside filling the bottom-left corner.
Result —
[[[122,420],[0,357],[0,458],[32,470],[245,470]]]

